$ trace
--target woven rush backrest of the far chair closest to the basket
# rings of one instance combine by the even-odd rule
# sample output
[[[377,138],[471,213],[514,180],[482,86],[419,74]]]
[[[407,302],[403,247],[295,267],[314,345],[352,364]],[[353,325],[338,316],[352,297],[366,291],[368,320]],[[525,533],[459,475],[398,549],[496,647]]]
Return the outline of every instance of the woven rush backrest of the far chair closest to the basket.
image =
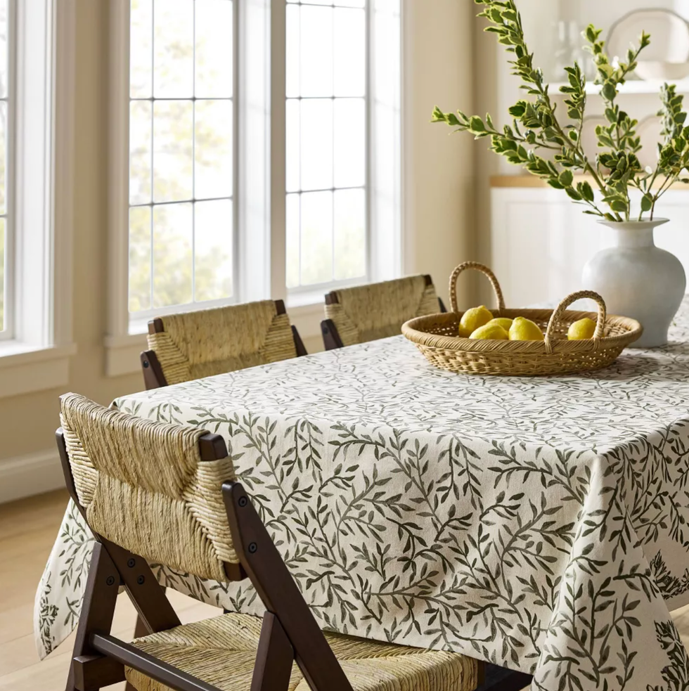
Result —
[[[321,323],[326,350],[398,336],[414,317],[444,311],[430,276],[407,276],[334,290]]]

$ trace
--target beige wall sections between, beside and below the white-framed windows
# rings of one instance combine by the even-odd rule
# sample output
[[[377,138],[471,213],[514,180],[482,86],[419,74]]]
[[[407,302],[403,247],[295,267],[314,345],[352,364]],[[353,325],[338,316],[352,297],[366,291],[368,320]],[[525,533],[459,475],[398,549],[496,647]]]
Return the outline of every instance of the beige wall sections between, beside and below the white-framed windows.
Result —
[[[470,256],[472,143],[448,138],[428,123],[435,103],[444,108],[471,97],[473,6],[458,0],[407,0],[404,110],[408,272],[431,273],[443,295],[446,277]],[[141,375],[105,377],[103,337],[107,304],[108,3],[77,0],[77,79],[74,225],[74,340],[70,382],[107,404],[143,388]],[[0,399],[3,460],[54,448],[62,390]],[[1,478],[1,473],[0,473]],[[1,479],[0,479],[1,482]]]

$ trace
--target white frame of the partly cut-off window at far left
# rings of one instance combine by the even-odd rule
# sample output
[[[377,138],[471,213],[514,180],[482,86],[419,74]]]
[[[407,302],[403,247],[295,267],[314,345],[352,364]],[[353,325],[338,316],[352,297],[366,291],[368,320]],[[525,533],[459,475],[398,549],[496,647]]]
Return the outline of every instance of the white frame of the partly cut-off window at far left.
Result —
[[[67,384],[72,344],[75,0],[14,0],[9,60],[10,329],[0,397]]]

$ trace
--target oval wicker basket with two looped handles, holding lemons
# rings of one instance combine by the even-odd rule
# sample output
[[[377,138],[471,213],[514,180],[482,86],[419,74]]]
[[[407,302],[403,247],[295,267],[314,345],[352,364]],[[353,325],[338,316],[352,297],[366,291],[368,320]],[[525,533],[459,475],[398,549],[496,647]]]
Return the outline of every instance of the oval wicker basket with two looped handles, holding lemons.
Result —
[[[498,309],[495,317],[524,316],[546,330],[543,341],[471,340],[457,335],[463,312],[457,311],[457,278],[466,269],[482,271],[491,281]],[[575,300],[590,298],[598,303],[593,312],[568,310]],[[437,367],[451,372],[482,375],[555,375],[585,372],[606,367],[643,332],[640,323],[621,316],[607,316],[605,302],[589,290],[574,292],[553,309],[506,309],[503,292],[494,273],[475,261],[460,264],[450,276],[447,314],[416,317],[402,325],[402,333]],[[593,338],[567,340],[569,325],[579,319],[596,319]]]

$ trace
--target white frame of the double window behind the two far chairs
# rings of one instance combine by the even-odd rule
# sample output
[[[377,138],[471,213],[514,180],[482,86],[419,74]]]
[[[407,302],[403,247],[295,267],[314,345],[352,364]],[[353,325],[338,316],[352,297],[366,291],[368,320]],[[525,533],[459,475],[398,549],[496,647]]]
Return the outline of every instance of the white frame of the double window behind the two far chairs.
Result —
[[[402,5],[402,0],[398,0]],[[373,41],[382,24],[382,0],[367,0],[367,276],[288,291],[285,271],[285,0],[235,0],[235,276],[232,300],[284,299],[290,318],[309,337],[319,334],[323,293],[366,280],[397,278],[402,266],[401,75],[394,103],[377,100]],[[378,23],[377,23],[378,22]],[[394,18],[401,41],[401,7]],[[389,29],[389,27],[388,27]],[[146,323],[129,317],[129,0],[110,0],[110,233],[108,336],[105,371],[110,376],[139,370]],[[401,50],[398,60],[401,70]],[[379,132],[375,108],[388,109],[394,129],[394,171],[382,170],[375,155]],[[385,219],[384,221],[382,219]],[[391,251],[392,248],[392,251]],[[250,270],[245,267],[250,266]],[[208,303],[199,307],[209,306]],[[182,305],[157,311],[189,311]]]

